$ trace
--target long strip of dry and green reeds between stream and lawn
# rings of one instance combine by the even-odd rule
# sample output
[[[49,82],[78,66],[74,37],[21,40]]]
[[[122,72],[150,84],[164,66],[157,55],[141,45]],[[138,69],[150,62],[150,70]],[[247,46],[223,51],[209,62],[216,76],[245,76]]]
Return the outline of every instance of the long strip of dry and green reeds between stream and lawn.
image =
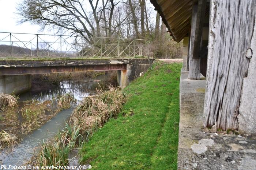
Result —
[[[69,152],[80,148],[94,130],[116,116],[125,100],[126,95],[113,86],[97,89],[96,95],[85,97],[72,112],[70,125],[66,123],[54,140],[43,141],[31,163],[37,166],[67,166]]]

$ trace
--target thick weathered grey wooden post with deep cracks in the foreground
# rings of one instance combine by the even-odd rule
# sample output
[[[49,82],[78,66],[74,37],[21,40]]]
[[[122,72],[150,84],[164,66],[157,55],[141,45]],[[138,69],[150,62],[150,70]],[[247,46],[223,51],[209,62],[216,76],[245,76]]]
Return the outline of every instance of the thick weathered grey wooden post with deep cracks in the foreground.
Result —
[[[255,0],[210,1],[204,127],[238,129],[242,84],[251,57],[246,51],[248,54],[251,50],[255,9]]]

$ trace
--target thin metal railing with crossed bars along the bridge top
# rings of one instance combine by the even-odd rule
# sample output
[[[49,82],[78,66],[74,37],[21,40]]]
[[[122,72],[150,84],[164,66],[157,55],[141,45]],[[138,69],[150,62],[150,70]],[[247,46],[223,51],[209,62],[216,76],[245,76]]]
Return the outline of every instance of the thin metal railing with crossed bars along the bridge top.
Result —
[[[148,40],[0,32],[0,57],[135,57]]]

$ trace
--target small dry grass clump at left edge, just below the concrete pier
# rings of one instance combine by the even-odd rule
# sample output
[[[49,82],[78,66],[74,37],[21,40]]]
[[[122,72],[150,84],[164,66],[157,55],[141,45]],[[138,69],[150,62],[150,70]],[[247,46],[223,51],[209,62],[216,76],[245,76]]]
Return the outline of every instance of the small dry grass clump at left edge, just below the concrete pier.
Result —
[[[18,106],[17,98],[10,94],[0,93],[0,109],[12,110]]]

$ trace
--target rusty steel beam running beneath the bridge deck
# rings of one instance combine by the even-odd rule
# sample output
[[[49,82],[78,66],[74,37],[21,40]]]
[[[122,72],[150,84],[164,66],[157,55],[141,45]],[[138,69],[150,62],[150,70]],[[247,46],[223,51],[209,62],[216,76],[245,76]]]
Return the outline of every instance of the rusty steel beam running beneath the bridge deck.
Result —
[[[45,74],[58,72],[77,71],[109,71],[126,70],[126,64],[106,64],[90,66],[46,66],[46,67],[2,67],[0,75],[25,75],[25,74]]]

